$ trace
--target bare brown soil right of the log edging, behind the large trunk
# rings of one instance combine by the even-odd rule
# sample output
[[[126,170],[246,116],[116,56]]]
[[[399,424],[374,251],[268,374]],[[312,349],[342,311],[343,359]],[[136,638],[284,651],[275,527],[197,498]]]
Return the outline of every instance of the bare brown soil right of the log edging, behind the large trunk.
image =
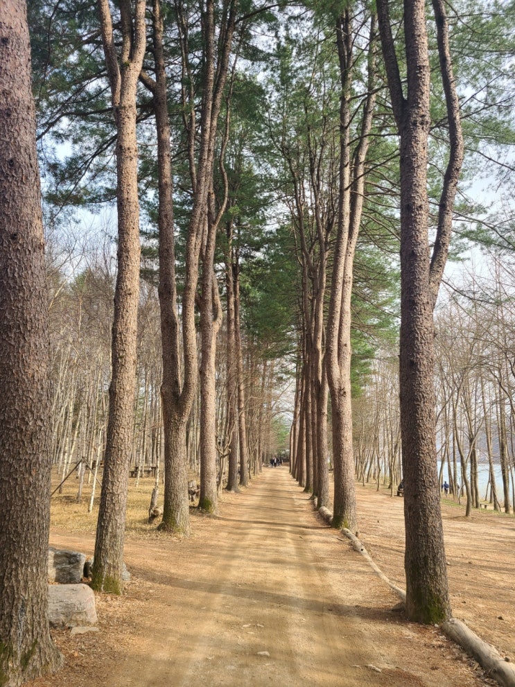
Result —
[[[392,582],[404,583],[403,499],[358,485],[360,539]],[[442,500],[447,573],[455,618],[515,661],[515,517]]]

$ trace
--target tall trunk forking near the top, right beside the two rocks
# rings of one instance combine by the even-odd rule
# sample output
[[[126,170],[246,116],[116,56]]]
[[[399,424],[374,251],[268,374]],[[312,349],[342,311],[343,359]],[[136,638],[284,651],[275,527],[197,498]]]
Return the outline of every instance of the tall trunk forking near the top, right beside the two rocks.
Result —
[[[109,418],[91,586],[116,594],[123,591],[123,534],[134,429],[140,254],[136,93],[146,46],[145,9],[145,0],[137,0],[132,17],[130,1],[121,1],[121,23],[125,31],[118,58],[109,3],[98,0],[117,134],[118,273]]]

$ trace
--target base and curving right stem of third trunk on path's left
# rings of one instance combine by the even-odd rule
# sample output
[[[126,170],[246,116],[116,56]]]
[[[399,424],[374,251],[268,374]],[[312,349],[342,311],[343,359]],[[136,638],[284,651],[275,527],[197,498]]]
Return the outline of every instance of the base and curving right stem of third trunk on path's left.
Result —
[[[170,428],[168,451],[165,451],[164,513],[159,529],[188,535],[190,532],[189,509],[184,495],[187,496],[186,464],[186,427],[191,408],[195,401],[198,383],[198,351],[195,327],[195,297],[198,288],[199,259],[202,247],[202,231],[206,221],[209,191],[213,185],[213,161],[216,144],[216,124],[220,113],[222,95],[227,78],[229,55],[234,33],[236,2],[231,1],[226,24],[223,27],[224,39],[220,43],[220,53],[216,60],[215,8],[213,0],[207,0],[202,10],[202,34],[204,62],[202,73],[202,112],[200,114],[200,142],[198,158],[195,162],[195,145],[198,137],[194,94],[189,64],[189,34],[186,30],[185,8],[181,2],[175,3],[177,28],[179,31],[184,81],[182,96],[185,125],[188,134],[190,177],[193,189],[193,207],[186,236],[186,274],[182,295],[182,341],[184,351],[184,374],[174,374],[173,388],[166,390],[172,395],[170,416],[165,417]],[[188,101],[191,98],[191,102]]]

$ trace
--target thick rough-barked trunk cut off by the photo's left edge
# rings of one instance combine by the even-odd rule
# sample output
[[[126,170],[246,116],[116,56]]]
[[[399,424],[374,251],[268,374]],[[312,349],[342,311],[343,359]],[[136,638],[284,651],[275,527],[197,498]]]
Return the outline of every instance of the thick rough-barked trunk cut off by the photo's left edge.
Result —
[[[49,634],[51,392],[30,42],[0,3],[0,684],[53,672]]]

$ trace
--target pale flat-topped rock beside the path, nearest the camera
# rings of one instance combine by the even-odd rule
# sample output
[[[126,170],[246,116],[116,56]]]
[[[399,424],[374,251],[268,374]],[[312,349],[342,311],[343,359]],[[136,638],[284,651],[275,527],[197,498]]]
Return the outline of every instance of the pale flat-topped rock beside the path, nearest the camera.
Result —
[[[87,584],[49,584],[51,627],[84,627],[96,622],[95,595]]]

